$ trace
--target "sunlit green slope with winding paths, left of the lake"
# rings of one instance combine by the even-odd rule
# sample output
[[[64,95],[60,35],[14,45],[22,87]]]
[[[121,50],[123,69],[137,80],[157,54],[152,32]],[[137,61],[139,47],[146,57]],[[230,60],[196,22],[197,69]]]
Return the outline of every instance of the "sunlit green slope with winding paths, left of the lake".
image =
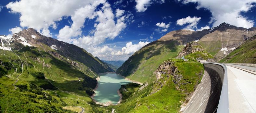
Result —
[[[0,83],[4,84],[3,87],[7,87],[0,89],[5,94],[0,103],[2,111],[66,112],[62,107],[82,106],[86,112],[105,112],[105,109],[99,108],[89,97],[96,86],[97,75],[83,63],[80,63],[82,67],[80,69],[63,60],[65,57],[54,57],[40,48],[22,46],[19,43],[13,46],[17,46],[17,49],[14,48],[12,51],[0,49],[0,79],[2,79]],[[29,90],[29,84],[37,87],[36,92],[45,92],[44,95],[55,97],[59,103],[49,104],[50,100],[56,101],[53,99],[40,100],[43,94],[35,96],[36,94],[32,94],[35,92],[29,95],[40,97],[39,100],[35,99],[36,102],[30,100],[30,97],[23,95],[23,92],[27,91],[26,88],[23,90],[23,86],[28,86]],[[19,98],[21,98],[20,102]],[[15,105],[16,108],[13,107]],[[24,111],[19,111],[22,109]]]

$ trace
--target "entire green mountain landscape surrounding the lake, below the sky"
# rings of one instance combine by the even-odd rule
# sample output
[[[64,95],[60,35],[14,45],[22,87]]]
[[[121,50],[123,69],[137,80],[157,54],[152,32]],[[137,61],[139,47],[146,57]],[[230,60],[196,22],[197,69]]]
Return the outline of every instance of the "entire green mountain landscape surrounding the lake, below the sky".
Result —
[[[86,112],[179,112],[203,75],[198,60],[254,63],[255,35],[256,27],[226,23],[171,31],[125,62],[101,60],[33,28],[0,36],[0,112],[72,112],[64,106],[74,105]],[[121,104],[101,107],[90,98],[93,89],[99,74],[115,71],[143,85],[122,85]]]

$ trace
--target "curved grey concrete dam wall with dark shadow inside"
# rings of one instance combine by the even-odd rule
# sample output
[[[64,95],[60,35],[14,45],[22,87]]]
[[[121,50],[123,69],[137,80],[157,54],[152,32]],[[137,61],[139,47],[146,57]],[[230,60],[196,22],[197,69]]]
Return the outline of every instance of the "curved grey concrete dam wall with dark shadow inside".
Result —
[[[226,66],[204,63],[204,75],[183,113],[228,113]]]

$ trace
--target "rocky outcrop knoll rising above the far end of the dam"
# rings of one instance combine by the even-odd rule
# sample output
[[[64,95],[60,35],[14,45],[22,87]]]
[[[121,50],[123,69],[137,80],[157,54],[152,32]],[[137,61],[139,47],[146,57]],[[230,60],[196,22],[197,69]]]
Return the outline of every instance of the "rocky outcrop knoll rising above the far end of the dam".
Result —
[[[198,44],[197,42],[191,42],[188,43],[182,51],[179,53],[178,57],[183,57],[185,55],[188,55],[190,53],[195,53],[197,51],[204,51],[203,47]]]

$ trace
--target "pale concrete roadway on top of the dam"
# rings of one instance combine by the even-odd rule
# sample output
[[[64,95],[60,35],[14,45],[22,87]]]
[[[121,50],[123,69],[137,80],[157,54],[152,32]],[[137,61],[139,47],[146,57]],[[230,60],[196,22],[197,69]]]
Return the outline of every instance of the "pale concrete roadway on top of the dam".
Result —
[[[256,75],[227,67],[230,113],[256,113]]]

